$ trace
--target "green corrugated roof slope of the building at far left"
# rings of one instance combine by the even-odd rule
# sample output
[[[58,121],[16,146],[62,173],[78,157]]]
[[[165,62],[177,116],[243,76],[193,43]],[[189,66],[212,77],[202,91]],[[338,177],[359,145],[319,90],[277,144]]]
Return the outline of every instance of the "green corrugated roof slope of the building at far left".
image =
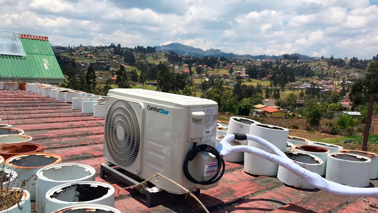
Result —
[[[26,56],[0,54],[0,77],[64,79],[50,42],[20,39]]]

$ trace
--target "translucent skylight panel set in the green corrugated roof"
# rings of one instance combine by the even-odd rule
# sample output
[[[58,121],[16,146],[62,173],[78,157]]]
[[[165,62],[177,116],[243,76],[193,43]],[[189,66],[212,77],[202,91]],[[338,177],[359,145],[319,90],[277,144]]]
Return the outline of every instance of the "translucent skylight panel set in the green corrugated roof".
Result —
[[[0,54],[26,56],[17,32],[0,29]]]

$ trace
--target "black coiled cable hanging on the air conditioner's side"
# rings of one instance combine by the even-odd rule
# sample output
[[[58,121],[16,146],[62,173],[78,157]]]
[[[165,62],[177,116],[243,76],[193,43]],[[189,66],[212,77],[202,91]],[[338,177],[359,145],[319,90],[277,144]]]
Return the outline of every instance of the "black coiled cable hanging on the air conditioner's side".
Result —
[[[191,176],[191,174],[189,173],[189,170],[188,170],[189,161],[193,161],[194,157],[200,151],[204,151],[204,152],[214,154],[215,157],[217,158],[217,163],[218,163],[217,173],[214,174],[214,176],[212,176],[210,179],[205,180],[205,181],[197,181],[196,179],[194,179],[194,177]],[[222,169],[222,171],[221,171],[221,169]],[[220,153],[214,147],[207,145],[207,144],[201,144],[201,145],[197,146],[197,143],[194,143],[194,147],[192,148],[192,150],[189,151],[189,153],[187,154],[187,156],[185,158],[183,170],[184,170],[185,177],[190,182],[192,182],[194,184],[211,185],[211,184],[218,182],[219,179],[225,173],[225,161],[223,160],[223,157],[220,155]]]

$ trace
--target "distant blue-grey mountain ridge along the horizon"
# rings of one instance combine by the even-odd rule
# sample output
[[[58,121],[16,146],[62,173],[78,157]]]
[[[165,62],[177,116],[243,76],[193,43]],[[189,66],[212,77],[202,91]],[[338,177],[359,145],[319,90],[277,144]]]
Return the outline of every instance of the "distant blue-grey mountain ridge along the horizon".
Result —
[[[246,55],[238,55],[234,54],[232,52],[226,53],[222,52],[220,49],[208,49],[203,50],[200,48],[195,48],[188,45],[183,45],[181,43],[170,43],[168,45],[162,45],[162,46],[156,46],[156,51],[174,51],[177,54],[180,55],[186,55],[186,56],[214,56],[214,57],[232,57],[232,58],[250,58],[250,59],[282,59],[283,56],[268,56],[268,55],[259,55],[259,56],[252,56],[250,54]],[[289,54],[290,56],[298,56],[301,60],[311,60],[314,59],[314,57],[305,56],[301,54]]]

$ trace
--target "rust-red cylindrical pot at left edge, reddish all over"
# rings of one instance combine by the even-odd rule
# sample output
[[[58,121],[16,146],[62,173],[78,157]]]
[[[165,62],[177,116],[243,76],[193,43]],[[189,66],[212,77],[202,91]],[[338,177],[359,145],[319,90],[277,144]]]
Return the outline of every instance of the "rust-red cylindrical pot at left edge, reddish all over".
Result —
[[[0,145],[0,156],[5,159],[17,154],[40,153],[43,152],[43,146],[31,143],[4,144]]]

